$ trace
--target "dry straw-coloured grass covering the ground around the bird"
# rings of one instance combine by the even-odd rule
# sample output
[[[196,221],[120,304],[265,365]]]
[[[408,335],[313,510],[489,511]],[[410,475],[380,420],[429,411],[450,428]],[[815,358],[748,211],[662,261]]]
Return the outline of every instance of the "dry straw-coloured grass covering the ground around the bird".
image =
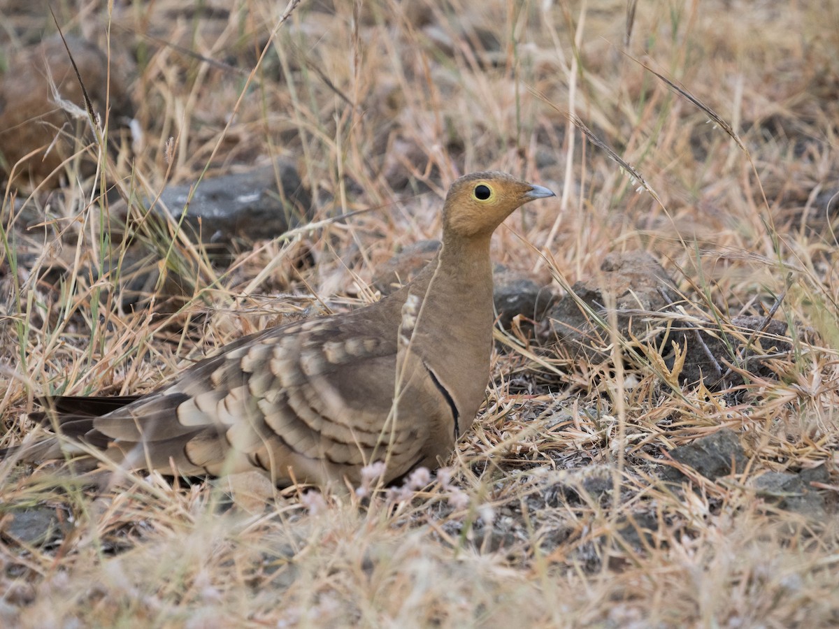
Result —
[[[102,188],[154,195],[283,155],[317,219],[370,211],[259,243],[220,269],[176,224],[151,227],[134,207],[137,237],[158,246],[138,262],[159,268],[153,288],[167,274],[188,280],[185,303],[152,315],[120,306],[127,242],[103,236],[107,200],[76,176],[77,160],[49,197],[15,205],[7,189],[3,445],[32,429],[25,413],[42,392],[143,392],[182,359],[314,301],[271,296],[371,299],[373,269],[435,237],[447,185],[476,169],[561,191],[499,230],[499,262],[572,283],[607,252],[644,248],[690,300],[685,314],[714,309],[724,323],[783,295],[776,316],[809,340],[777,361],[777,379],[709,392],[669,384],[649,355],[617,369],[533,360],[507,339],[518,349],[496,357],[451,471],[364,500],[287,490],[263,508],[240,489],[231,505],[224,481],[95,487],[60,468],[3,465],[0,510],[46,505],[65,522],[51,543],[0,541],[4,624],[839,622],[834,516],[784,512],[748,482],[827,465],[826,494],[839,491],[835,3],[629,3],[631,23],[618,2],[248,0],[206,3],[219,10],[205,14],[188,4],[117,3],[109,18],[107,3],[54,3],[65,32],[103,47],[110,33],[112,60],[128,47],[137,59],[133,153],[81,148]],[[637,194],[573,116],[654,195]],[[23,229],[23,200],[43,226]],[[302,252],[314,266],[299,268]],[[696,491],[659,481],[669,450],[720,426],[743,435],[741,476],[696,477]]]

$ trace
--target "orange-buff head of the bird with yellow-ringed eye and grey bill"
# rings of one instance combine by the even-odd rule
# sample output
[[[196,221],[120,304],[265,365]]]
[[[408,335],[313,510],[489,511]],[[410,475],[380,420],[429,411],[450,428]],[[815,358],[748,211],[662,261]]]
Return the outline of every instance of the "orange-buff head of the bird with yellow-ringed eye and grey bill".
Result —
[[[535,199],[555,196],[540,185],[513,175],[487,170],[457,179],[443,206],[443,236],[489,237],[516,208]]]

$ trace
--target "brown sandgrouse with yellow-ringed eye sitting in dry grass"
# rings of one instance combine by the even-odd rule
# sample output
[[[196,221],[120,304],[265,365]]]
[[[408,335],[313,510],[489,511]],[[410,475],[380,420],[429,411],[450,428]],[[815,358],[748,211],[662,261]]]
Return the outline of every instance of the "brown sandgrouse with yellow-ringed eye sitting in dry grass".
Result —
[[[438,468],[475,420],[492,357],[493,231],[555,196],[498,171],[467,174],[443,205],[442,246],[399,291],[347,313],[260,330],[141,396],[56,397],[57,434],[22,460],[98,456],[126,470],[274,485],[358,485]],[[383,464],[383,467],[382,467]]]

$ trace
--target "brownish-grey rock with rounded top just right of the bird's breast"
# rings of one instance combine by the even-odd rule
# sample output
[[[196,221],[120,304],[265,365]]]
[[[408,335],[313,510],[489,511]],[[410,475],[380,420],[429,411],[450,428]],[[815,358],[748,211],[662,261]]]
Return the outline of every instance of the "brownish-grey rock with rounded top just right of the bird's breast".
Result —
[[[630,331],[644,339],[650,327],[644,322],[648,314],[627,314],[628,311],[654,314],[675,301],[673,280],[648,252],[609,253],[601,271],[600,277],[575,283],[571,287],[573,294],[565,295],[548,311],[539,334],[555,350],[597,362],[611,356],[607,349],[612,343],[609,332],[592,320],[578,300],[604,322],[606,305],[611,300],[618,310],[618,334],[624,339],[630,338]]]

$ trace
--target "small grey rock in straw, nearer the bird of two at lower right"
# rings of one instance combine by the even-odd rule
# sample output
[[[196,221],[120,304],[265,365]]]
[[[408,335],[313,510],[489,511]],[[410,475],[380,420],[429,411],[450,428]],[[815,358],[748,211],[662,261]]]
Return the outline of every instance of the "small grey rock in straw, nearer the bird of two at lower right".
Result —
[[[733,430],[723,428],[706,437],[700,437],[690,444],[680,445],[670,450],[673,460],[696,470],[709,481],[716,481],[721,476],[732,472],[740,473],[746,469],[748,457],[740,438]],[[681,482],[685,475],[675,467],[664,470],[664,480]]]

